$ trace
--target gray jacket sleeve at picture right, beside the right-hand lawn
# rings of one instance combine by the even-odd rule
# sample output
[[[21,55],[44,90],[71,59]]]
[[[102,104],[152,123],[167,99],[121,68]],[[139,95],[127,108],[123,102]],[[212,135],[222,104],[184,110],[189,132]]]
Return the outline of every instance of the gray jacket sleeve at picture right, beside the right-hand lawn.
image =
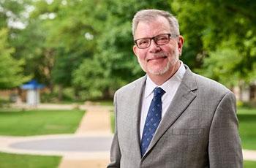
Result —
[[[209,132],[208,157],[211,168],[243,167],[236,98],[231,92],[223,96],[214,113]]]

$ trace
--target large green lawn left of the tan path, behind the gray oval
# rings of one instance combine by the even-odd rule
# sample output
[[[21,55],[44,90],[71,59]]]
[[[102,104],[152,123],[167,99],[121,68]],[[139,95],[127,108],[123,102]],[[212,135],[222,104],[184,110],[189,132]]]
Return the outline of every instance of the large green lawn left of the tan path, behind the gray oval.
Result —
[[[0,110],[0,135],[73,133],[83,114],[83,110]]]

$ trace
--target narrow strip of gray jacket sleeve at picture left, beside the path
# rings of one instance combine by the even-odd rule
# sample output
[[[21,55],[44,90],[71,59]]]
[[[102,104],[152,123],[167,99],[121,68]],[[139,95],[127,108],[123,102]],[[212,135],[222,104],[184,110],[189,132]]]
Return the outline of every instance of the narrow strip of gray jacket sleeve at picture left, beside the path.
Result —
[[[116,94],[114,96],[114,106],[115,106],[115,134],[113,137],[111,149],[110,149],[110,164],[108,164],[108,168],[111,167],[120,167],[120,160],[121,160],[121,152],[119,148],[118,142],[118,128],[117,128],[117,98]]]

